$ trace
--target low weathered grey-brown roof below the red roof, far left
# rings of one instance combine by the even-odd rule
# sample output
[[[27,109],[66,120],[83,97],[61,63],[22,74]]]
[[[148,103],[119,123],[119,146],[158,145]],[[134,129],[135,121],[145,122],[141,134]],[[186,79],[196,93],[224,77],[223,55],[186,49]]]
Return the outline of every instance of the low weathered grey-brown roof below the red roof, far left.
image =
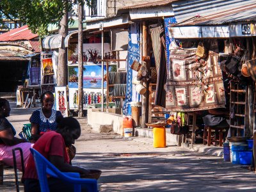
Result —
[[[0,50],[1,61],[26,61],[29,58],[25,58],[26,54],[22,54],[16,51]]]

